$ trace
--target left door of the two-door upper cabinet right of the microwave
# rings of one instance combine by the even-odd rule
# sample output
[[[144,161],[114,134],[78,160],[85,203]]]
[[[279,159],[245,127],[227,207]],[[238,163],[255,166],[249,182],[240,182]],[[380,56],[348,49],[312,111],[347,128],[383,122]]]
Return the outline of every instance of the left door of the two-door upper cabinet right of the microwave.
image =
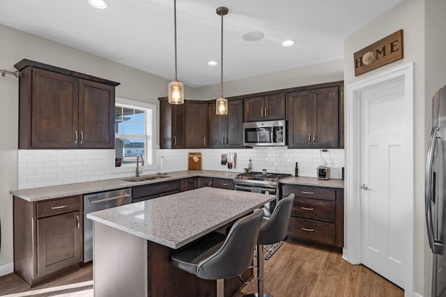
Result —
[[[312,91],[286,94],[288,147],[312,147]]]

